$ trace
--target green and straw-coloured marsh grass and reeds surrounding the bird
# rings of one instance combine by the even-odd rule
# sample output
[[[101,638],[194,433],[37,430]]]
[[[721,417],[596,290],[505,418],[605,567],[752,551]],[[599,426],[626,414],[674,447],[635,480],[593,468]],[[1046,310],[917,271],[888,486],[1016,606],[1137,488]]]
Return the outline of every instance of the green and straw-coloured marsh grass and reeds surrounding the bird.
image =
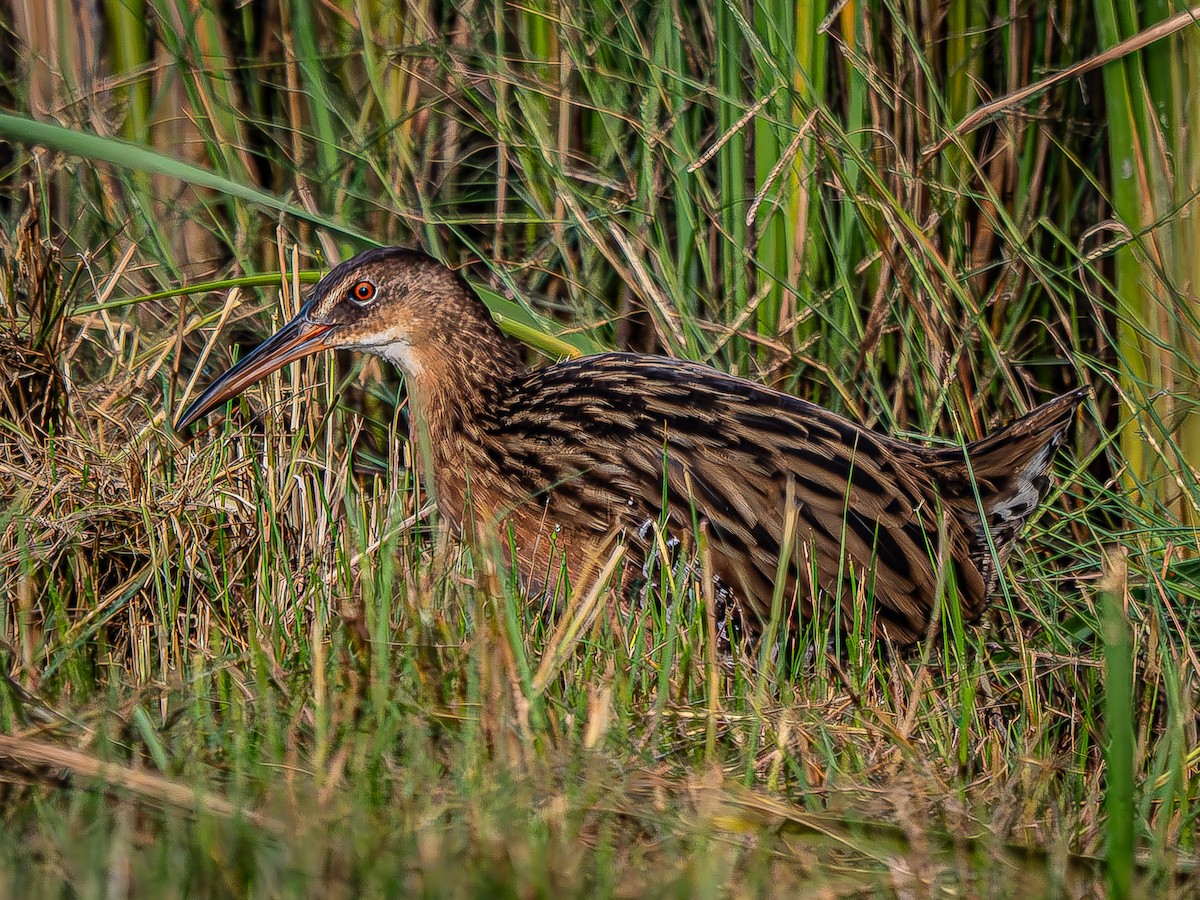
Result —
[[[1196,893],[1200,31],[986,106],[1172,12],[0,5],[0,893]],[[450,541],[378,362],[172,431],[374,242],[530,359],[1094,397],[982,625],[730,671]]]

